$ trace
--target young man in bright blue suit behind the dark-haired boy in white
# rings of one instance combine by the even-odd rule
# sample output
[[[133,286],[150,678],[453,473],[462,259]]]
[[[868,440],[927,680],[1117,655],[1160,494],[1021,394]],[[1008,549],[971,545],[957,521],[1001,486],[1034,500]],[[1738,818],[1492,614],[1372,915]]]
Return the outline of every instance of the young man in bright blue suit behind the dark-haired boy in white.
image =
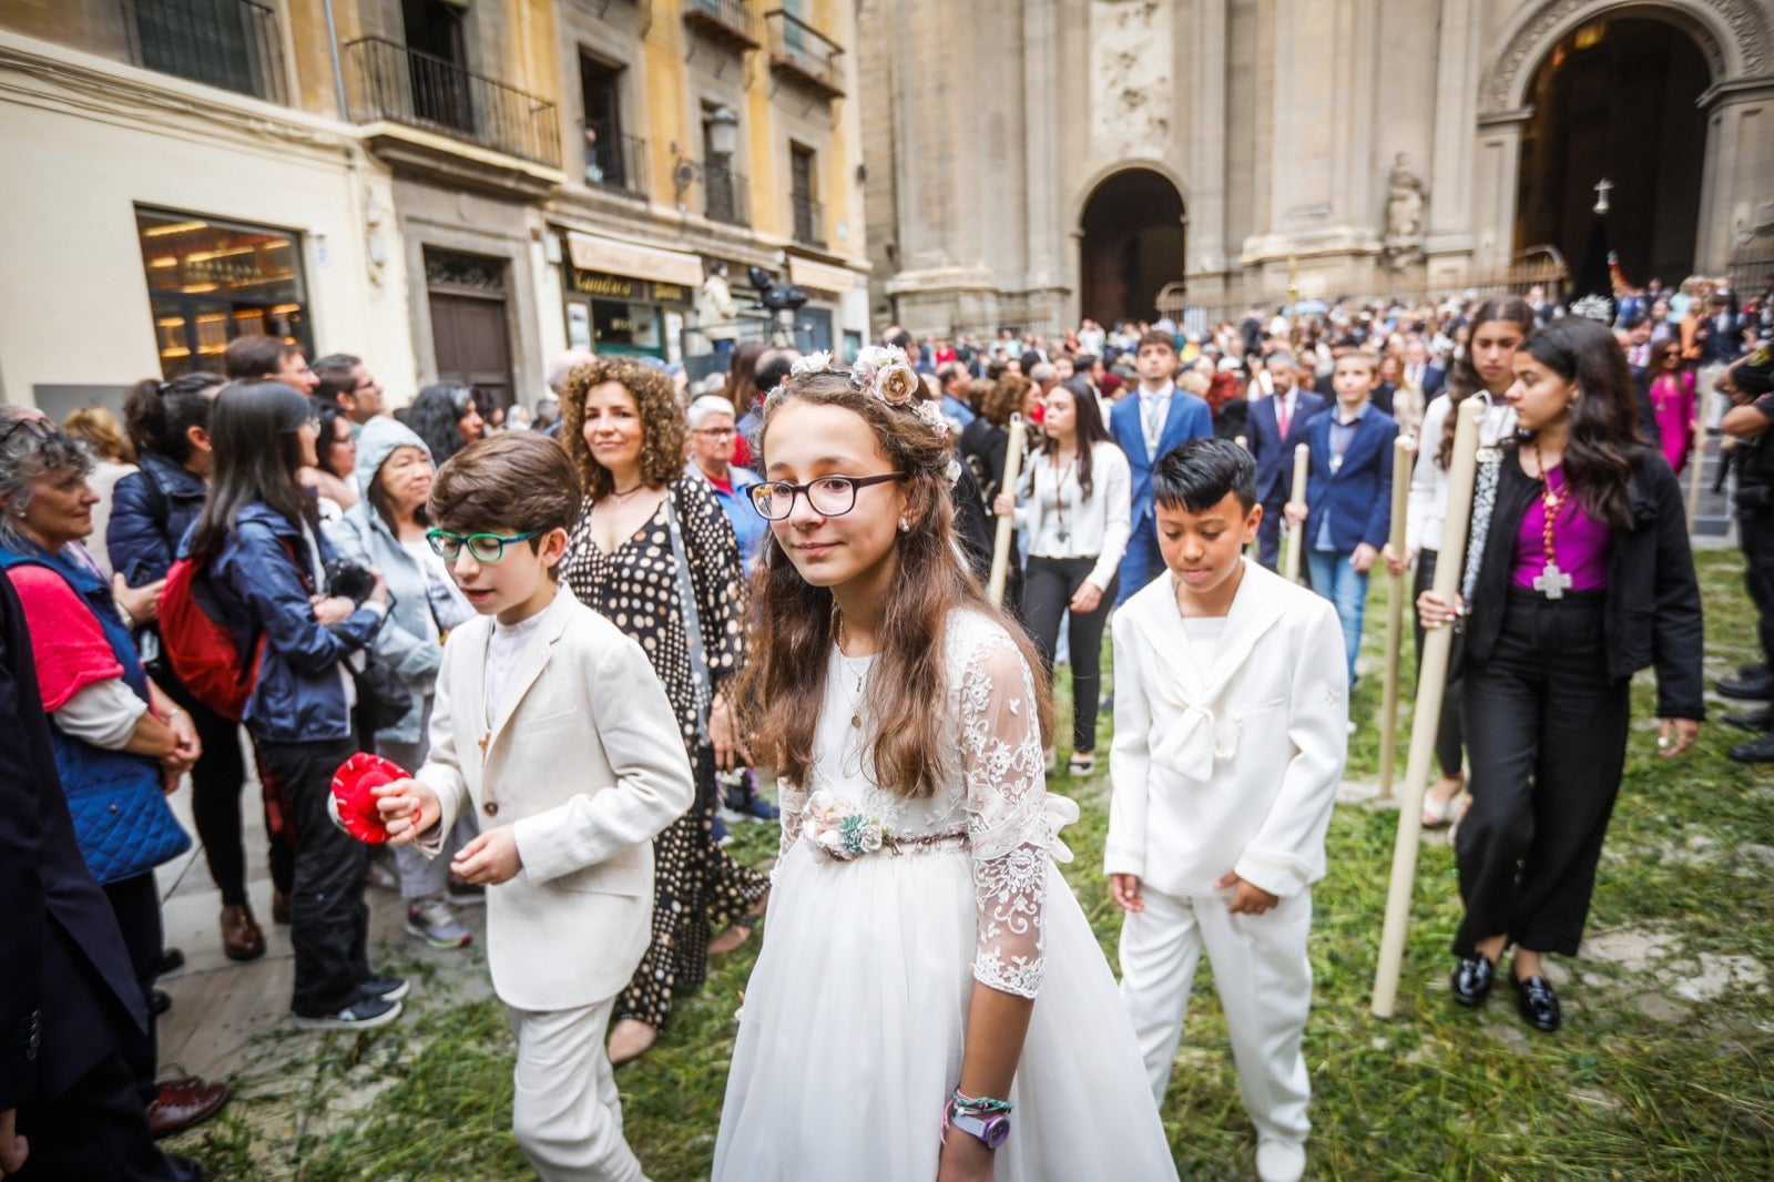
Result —
[[[1213,435],[1213,412],[1205,399],[1178,390],[1176,337],[1169,332],[1148,332],[1139,339],[1134,355],[1139,385],[1109,412],[1109,429],[1114,442],[1126,453],[1134,474],[1134,506],[1130,518],[1134,536],[1126,541],[1121,559],[1121,591],[1116,603],[1151,582],[1164,570],[1158,554],[1158,525],[1151,502],[1151,465],[1173,447],[1192,438]]]

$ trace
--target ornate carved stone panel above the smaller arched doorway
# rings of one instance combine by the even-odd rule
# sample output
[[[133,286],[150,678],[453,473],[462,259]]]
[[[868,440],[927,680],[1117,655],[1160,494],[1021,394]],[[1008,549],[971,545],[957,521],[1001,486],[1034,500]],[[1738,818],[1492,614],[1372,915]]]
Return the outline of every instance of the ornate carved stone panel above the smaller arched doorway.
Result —
[[[1114,156],[1169,151],[1176,91],[1171,4],[1093,0],[1091,146]]]

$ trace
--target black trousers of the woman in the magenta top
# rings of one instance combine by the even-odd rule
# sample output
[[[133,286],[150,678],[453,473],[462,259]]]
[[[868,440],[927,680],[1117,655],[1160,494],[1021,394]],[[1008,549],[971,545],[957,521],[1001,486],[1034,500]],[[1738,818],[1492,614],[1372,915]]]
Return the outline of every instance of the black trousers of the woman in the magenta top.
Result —
[[[1455,839],[1455,955],[1508,935],[1568,957],[1582,939],[1630,717],[1630,682],[1607,676],[1604,595],[1511,587],[1495,650],[1465,671],[1472,808]]]

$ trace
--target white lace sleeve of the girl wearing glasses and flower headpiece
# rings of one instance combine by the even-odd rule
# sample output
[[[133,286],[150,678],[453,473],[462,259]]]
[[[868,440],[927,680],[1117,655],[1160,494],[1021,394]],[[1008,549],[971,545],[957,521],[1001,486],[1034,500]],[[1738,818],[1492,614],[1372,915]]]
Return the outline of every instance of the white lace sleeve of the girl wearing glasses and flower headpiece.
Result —
[[[997,632],[967,660],[960,694],[979,935],[974,980],[1006,994],[1041,990],[1047,902],[1047,774],[1034,678]]]

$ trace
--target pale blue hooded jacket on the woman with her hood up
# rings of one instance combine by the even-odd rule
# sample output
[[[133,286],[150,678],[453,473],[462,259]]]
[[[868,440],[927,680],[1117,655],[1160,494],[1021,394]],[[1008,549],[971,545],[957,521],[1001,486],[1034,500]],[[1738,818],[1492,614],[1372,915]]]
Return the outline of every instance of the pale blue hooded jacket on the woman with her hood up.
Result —
[[[431,449],[403,422],[380,417],[364,424],[357,440],[357,486],[362,495],[342,518],[326,525],[326,541],[353,563],[374,566],[389,580],[389,618],[376,632],[376,651],[413,692],[413,705],[397,722],[376,731],[374,738],[385,744],[417,744],[422,738],[419,726],[426,699],[436,689],[438,666],[444,664],[444,641],[433,639],[435,634],[426,626],[431,616],[426,570],[369,504],[369,486],[397,447],[419,447],[426,460],[431,458]]]

